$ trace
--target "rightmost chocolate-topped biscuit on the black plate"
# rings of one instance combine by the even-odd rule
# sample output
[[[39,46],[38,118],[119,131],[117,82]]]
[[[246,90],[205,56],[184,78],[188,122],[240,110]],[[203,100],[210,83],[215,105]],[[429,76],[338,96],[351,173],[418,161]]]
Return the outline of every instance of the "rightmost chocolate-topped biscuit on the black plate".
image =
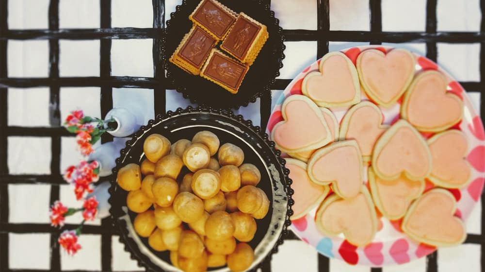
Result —
[[[251,65],[267,38],[266,26],[241,13],[223,41],[221,49]]]

